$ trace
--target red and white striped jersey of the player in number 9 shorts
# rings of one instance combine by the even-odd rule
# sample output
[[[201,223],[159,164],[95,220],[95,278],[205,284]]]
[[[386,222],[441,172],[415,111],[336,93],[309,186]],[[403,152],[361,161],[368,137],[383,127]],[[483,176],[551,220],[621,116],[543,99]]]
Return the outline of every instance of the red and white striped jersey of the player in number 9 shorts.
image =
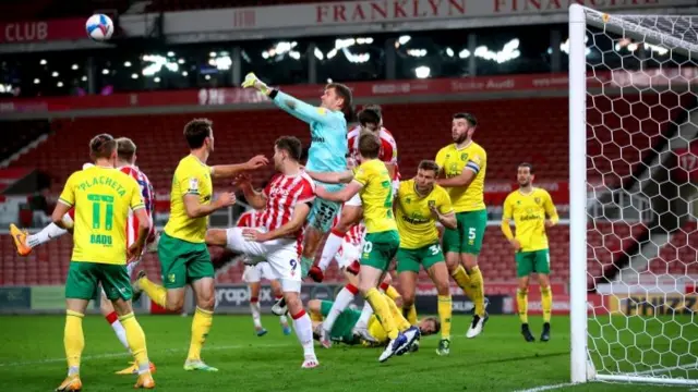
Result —
[[[260,225],[268,231],[288,223],[298,204],[315,199],[315,183],[305,172],[297,175],[276,174],[264,188],[266,206],[260,218]],[[300,238],[302,230],[293,234]]]

